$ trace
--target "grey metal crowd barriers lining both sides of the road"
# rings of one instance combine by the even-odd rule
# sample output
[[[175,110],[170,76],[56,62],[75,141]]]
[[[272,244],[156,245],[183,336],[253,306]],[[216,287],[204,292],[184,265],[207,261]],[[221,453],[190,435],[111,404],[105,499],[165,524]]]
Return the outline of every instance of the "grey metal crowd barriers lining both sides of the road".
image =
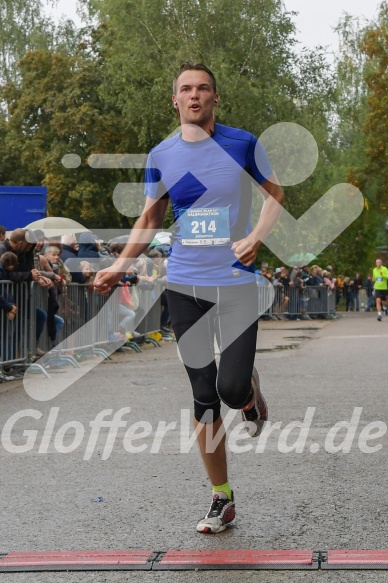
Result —
[[[162,288],[137,288],[137,291],[140,305],[135,318],[136,331],[143,335],[160,330]],[[27,284],[0,282],[0,293],[6,298],[13,298],[12,301],[18,307],[14,320],[9,320],[4,310],[0,313],[0,365],[26,363],[37,353],[39,355],[40,351],[49,351],[58,344],[61,344],[62,351],[70,353],[95,349],[114,340],[114,333],[120,331],[122,318],[117,294],[114,301],[107,304],[108,297],[96,293],[88,285],[67,285],[57,298],[57,315],[63,319],[63,326],[57,334],[53,334],[56,328],[55,318],[53,314],[50,315],[47,288],[42,288],[35,282],[30,287]],[[271,303],[273,294],[272,305],[264,312],[265,306]],[[302,289],[292,286],[276,286],[274,289],[261,286],[259,298],[264,317],[325,317],[335,314],[335,290],[330,290],[326,285],[305,286]],[[58,323],[58,329],[60,324],[61,322]]]

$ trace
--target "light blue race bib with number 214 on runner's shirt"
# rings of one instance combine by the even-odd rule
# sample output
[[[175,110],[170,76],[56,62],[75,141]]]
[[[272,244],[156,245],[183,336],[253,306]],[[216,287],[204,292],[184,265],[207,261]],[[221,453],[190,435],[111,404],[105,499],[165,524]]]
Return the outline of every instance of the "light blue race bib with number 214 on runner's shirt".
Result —
[[[182,245],[225,245],[230,242],[228,208],[181,211],[179,226]]]

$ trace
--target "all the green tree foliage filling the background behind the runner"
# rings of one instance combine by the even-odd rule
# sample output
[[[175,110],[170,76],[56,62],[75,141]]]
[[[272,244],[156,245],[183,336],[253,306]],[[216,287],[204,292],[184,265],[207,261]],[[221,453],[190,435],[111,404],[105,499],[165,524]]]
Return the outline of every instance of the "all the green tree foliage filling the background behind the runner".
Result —
[[[339,23],[335,67],[324,49],[295,52],[293,14],[281,0],[82,2],[89,26],[77,31],[69,21],[54,26],[44,18],[40,0],[0,0],[0,183],[47,185],[52,215],[92,228],[131,226],[112,195],[119,183],[139,182],[141,171],[96,169],[88,158],[146,153],[174,131],[172,80],[190,60],[217,76],[221,123],[260,136],[287,121],[313,134],[315,171],[285,188],[294,217],[348,180],[384,208],[386,2],[376,26],[350,17]],[[66,154],[78,155],[81,165],[65,168]],[[171,222],[170,209],[164,226]],[[319,262],[349,273],[366,269],[380,231],[372,205]],[[278,263],[265,249],[262,259]]]

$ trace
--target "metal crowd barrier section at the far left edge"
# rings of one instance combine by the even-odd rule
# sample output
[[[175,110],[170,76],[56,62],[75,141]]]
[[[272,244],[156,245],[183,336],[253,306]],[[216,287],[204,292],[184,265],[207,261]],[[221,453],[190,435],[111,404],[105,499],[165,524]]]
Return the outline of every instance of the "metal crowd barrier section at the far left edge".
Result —
[[[0,310],[0,368],[23,364],[29,357],[29,309],[26,283],[0,282],[0,295],[18,308],[13,320]]]

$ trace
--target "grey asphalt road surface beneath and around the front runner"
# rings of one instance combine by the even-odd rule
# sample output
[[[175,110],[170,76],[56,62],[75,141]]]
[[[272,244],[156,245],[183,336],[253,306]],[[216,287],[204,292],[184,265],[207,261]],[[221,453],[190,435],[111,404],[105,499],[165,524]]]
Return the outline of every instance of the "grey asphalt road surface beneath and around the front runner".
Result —
[[[210,485],[189,441],[188,379],[166,342],[114,354],[51,401],[35,401],[21,381],[0,385],[0,553],[387,549],[388,318],[260,327],[256,366],[272,429],[247,441],[233,433],[239,416],[231,421],[233,526],[195,532]],[[96,434],[98,415],[115,414],[117,435],[109,426]],[[370,570],[0,573],[11,583],[387,580]]]

